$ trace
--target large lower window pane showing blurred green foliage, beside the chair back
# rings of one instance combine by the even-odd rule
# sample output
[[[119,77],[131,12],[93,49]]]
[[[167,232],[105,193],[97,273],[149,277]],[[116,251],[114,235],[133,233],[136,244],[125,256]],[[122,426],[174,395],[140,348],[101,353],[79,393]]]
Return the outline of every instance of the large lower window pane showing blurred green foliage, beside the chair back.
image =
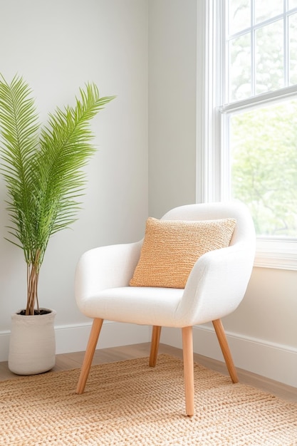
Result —
[[[259,236],[297,238],[297,100],[230,118],[231,195]]]

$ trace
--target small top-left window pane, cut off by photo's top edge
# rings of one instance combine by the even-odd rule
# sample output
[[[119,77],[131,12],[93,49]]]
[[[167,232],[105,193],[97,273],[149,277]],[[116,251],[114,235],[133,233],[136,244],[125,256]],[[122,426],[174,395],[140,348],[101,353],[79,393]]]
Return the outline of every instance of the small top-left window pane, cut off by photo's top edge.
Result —
[[[229,0],[229,35],[251,26],[251,0]]]

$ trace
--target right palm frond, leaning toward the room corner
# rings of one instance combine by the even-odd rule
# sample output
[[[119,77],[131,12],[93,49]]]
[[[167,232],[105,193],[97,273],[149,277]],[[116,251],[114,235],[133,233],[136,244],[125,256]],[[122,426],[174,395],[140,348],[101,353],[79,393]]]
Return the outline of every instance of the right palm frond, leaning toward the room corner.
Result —
[[[112,99],[100,98],[96,85],[89,83],[85,90],[80,89],[75,107],[58,108],[41,132],[35,181],[40,182],[37,212],[42,224],[38,238],[45,246],[52,234],[75,220],[79,209],[76,199],[85,185],[81,168],[95,151],[90,143],[90,120]]]

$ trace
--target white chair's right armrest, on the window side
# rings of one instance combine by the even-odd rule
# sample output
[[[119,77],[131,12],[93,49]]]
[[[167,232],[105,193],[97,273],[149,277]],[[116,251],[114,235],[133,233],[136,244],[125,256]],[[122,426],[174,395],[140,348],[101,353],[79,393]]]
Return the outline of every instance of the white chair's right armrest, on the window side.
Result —
[[[244,298],[254,264],[254,246],[234,246],[209,251],[191,271],[176,316],[184,325],[222,318]]]

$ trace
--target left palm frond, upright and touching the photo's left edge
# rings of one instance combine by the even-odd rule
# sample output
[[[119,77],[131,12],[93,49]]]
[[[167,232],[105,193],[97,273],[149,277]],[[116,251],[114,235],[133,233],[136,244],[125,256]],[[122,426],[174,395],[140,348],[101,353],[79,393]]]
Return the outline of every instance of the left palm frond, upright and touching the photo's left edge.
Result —
[[[34,207],[32,162],[38,150],[38,116],[31,90],[15,76],[9,85],[0,78],[0,134],[2,173],[8,189],[8,211],[14,227],[10,233],[19,239],[25,259],[30,258]]]

